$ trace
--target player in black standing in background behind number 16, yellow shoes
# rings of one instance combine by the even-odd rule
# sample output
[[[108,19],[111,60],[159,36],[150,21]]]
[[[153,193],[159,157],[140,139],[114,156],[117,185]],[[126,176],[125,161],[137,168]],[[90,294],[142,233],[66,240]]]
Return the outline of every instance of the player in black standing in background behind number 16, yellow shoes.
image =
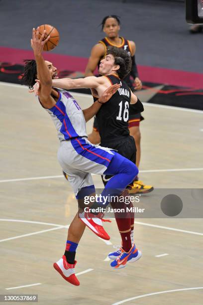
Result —
[[[124,80],[127,85],[130,87],[131,91],[140,90],[142,88],[142,83],[138,77],[137,66],[135,63],[135,50],[136,46],[134,41],[127,40],[123,37],[119,37],[120,30],[120,20],[116,15],[106,16],[102,20],[102,30],[106,34],[102,40],[100,40],[91,51],[91,56],[88,61],[88,65],[86,67],[85,76],[93,76],[95,69],[99,68],[100,61],[106,55],[106,50],[108,46],[116,46],[118,48],[122,48],[126,50],[132,59],[132,68],[130,73],[125,76]],[[131,81],[131,77],[133,81]],[[134,156],[134,160],[136,159],[136,165],[139,167],[140,162],[140,129],[139,123],[143,120],[143,117],[140,113],[136,113],[133,110],[133,107],[129,107],[129,121],[128,128],[130,130],[130,135],[133,136],[136,148],[133,149],[133,152],[137,150],[136,156]],[[103,127],[102,127],[103,128]],[[88,136],[88,139],[91,143],[98,144],[102,140],[99,134],[100,130],[98,127],[97,119],[94,121],[94,127],[92,133]],[[121,152],[120,152],[121,153]],[[121,153],[122,154],[122,153]],[[136,181],[131,185],[131,193],[146,193],[153,190],[151,185],[145,185],[142,181],[138,180],[138,177],[135,178]]]

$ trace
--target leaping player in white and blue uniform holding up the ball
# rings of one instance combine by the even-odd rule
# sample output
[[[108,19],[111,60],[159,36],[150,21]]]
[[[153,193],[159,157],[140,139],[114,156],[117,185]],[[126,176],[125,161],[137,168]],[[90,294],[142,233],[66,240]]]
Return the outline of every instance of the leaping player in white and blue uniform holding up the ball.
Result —
[[[99,81],[97,84],[95,83],[92,87],[98,89],[100,98],[89,109],[82,111],[70,93],[66,90],[52,88],[52,78],[56,78],[56,68],[51,63],[45,62],[42,56],[44,44],[48,41],[49,36],[43,40],[45,31],[40,39],[38,36],[39,28],[37,30],[33,28],[31,46],[34,51],[37,69],[35,77],[40,81],[38,97],[42,107],[47,110],[55,123],[60,140],[58,160],[63,170],[68,174],[68,179],[76,197],[83,198],[88,189],[91,189],[91,193],[95,190],[91,173],[114,175],[106,184],[102,195],[119,195],[133,180],[138,173],[138,169],[133,162],[118,153],[92,145],[87,140],[85,123],[97,113],[102,104],[117,91],[120,85],[115,84],[109,88],[109,83],[107,84],[104,80]],[[33,79],[32,83],[29,82],[33,66],[29,68],[26,71],[25,67],[27,74],[24,77],[24,84],[33,87]],[[94,81],[91,79],[91,82]],[[136,103],[136,97],[134,103]],[[113,189],[113,193],[109,193],[109,189]],[[80,285],[75,276],[75,253],[85,226],[88,226],[101,238],[109,239],[102,226],[102,213],[94,212],[94,208],[105,208],[108,203],[94,202],[90,207],[90,211],[81,212],[79,214],[80,217],[78,217],[77,213],[69,227],[65,255],[54,263],[54,268],[66,281],[73,285]],[[128,253],[123,251],[120,268],[121,266],[124,267],[127,261],[135,261],[138,254],[139,252],[135,245],[132,245]],[[123,260],[123,256],[126,257],[125,260]]]

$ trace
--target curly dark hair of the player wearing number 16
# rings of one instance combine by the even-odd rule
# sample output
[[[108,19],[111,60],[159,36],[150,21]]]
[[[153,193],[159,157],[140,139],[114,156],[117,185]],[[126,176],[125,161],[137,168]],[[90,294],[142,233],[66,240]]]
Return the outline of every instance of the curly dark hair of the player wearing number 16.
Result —
[[[109,46],[107,48],[107,54],[111,54],[114,57],[115,65],[119,65],[120,68],[116,71],[120,79],[123,79],[130,71],[132,67],[132,60],[127,51],[122,48]]]

